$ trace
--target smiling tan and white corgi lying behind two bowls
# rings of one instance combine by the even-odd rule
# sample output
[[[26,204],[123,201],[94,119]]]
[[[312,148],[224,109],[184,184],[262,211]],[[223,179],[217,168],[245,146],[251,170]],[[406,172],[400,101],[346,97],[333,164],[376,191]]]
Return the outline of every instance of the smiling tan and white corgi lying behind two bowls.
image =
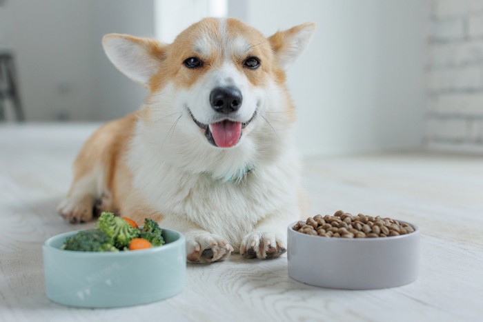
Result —
[[[59,214],[153,218],[185,235],[190,262],[283,254],[305,200],[286,68],[314,30],[304,23],[267,38],[206,18],[169,44],[107,34],[110,61],[148,94],[83,145]]]

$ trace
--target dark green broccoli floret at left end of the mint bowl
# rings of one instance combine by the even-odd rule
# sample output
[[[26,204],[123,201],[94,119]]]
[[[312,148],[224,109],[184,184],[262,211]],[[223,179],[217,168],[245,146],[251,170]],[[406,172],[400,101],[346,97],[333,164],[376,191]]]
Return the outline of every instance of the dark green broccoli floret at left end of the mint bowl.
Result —
[[[63,250],[77,250],[79,252],[119,252],[112,245],[110,237],[100,230],[82,230],[66,239],[61,247]]]

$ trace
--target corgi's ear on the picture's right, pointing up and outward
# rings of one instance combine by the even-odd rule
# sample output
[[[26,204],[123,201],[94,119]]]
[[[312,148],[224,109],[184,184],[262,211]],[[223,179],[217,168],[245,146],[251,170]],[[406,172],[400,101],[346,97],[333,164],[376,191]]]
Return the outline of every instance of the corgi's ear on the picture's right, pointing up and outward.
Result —
[[[305,50],[315,31],[315,23],[308,22],[289,30],[279,31],[268,38],[280,66],[286,69]]]

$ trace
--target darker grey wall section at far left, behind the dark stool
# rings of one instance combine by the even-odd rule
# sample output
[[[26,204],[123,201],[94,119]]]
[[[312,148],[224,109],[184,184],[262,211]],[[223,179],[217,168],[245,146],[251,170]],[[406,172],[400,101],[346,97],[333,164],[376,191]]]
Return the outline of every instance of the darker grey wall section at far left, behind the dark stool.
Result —
[[[68,113],[88,119],[94,103],[90,1],[6,0],[0,10],[3,47],[16,54],[26,118]]]

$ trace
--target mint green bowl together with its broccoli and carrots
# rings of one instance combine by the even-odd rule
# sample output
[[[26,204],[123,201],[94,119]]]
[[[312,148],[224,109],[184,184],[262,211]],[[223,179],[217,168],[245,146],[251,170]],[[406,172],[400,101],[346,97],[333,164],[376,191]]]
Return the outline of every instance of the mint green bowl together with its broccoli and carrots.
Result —
[[[93,230],[48,239],[43,267],[47,297],[57,303],[85,308],[151,303],[184,289],[185,238],[151,219],[138,228],[104,212]]]

